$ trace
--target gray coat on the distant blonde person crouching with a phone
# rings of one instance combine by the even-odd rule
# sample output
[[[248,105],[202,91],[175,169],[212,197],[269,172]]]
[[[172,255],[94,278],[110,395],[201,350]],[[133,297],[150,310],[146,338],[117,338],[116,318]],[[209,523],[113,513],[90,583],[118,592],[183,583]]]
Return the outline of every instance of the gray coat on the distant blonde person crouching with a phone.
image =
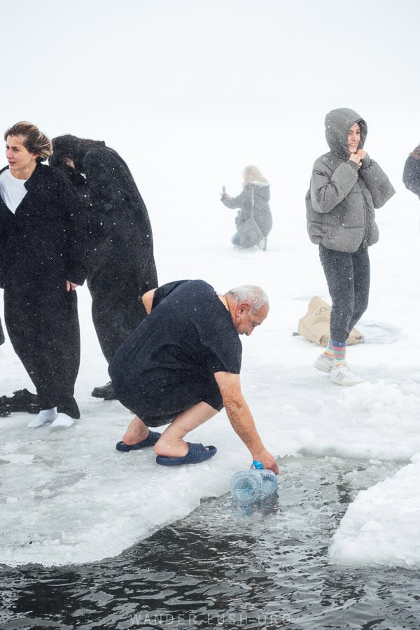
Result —
[[[248,221],[253,214],[262,235],[267,237],[272,229],[272,214],[269,209],[269,184],[261,181],[251,181],[244,186],[241,194],[228,199],[225,195],[222,202],[227,208],[240,208],[236,217],[236,226]]]

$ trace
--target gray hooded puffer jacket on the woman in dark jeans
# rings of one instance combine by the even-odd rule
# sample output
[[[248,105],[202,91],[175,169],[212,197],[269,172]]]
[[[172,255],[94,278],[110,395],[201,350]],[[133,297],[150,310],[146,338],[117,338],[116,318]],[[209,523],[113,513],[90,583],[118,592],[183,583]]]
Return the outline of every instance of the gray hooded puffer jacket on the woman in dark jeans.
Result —
[[[349,160],[349,129],[360,125],[363,148],[367,125],[351,109],[333,109],[325,116],[325,138],[330,152],[314,164],[306,195],[307,230],[313,243],[335,251],[354,252],[362,243],[379,239],[374,209],[395,193],[381,167],[366,155],[361,166]]]

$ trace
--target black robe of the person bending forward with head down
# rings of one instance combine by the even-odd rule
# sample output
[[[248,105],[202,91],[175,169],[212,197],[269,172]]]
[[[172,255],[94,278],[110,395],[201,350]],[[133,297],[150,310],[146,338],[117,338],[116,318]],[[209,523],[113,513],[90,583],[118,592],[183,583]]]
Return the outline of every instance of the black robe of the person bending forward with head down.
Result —
[[[148,211],[127,164],[104,142],[71,181],[87,209],[87,286],[92,318],[108,362],[146,317],[141,295],[158,286]]]

